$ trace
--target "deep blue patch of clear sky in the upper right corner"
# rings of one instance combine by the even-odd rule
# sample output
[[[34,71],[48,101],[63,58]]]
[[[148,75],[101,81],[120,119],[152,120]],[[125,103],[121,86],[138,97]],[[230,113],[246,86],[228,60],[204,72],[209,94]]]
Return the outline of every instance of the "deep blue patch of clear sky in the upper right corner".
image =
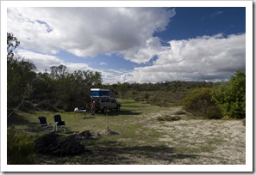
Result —
[[[245,33],[246,8],[182,7],[166,30],[155,33],[165,40],[196,38],[202,35]],[[236,16],[236,17],[234,17]]]

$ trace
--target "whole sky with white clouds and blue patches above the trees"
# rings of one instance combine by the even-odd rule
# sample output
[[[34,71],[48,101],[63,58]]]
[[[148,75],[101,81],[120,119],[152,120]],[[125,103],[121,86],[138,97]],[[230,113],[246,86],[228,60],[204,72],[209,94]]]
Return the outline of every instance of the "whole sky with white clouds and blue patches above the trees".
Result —
[[[16,54],[103,84],[227,81],[246,71],[245,7],[9,7]]]

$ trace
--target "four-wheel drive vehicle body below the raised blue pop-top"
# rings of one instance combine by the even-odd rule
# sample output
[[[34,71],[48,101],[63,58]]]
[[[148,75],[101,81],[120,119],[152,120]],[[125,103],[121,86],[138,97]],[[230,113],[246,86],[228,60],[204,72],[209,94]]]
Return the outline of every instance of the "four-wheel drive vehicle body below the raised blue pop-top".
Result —
[[[92,101],[95,101],[97,106],[96,106],[96,111],[101,111],[103,113],[107,113],[108,110],[116,109],[117,112],[120,111],[121,104],[116,101],[115,98],[110,98],[110,97],[97,97],[93,98]]]

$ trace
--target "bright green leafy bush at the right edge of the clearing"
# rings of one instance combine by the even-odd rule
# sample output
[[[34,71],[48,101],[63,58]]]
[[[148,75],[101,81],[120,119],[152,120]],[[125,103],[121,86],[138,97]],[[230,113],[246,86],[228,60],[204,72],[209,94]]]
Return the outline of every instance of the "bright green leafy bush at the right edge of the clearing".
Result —
[[[237,71],[230,81],[216,83],[212,97],[225,118],[246,118],[246,75]]]

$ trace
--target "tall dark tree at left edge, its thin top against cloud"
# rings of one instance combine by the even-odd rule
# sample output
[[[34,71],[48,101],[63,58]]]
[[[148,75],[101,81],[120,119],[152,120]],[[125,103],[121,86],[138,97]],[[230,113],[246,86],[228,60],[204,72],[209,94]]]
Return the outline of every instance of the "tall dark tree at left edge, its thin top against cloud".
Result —
[[[19,108],[33,92],[31,82],[36,78],[34,63],[24,57],[14,56],[13,51],[20,41],[7,33],[7,111],[8,116]]]

